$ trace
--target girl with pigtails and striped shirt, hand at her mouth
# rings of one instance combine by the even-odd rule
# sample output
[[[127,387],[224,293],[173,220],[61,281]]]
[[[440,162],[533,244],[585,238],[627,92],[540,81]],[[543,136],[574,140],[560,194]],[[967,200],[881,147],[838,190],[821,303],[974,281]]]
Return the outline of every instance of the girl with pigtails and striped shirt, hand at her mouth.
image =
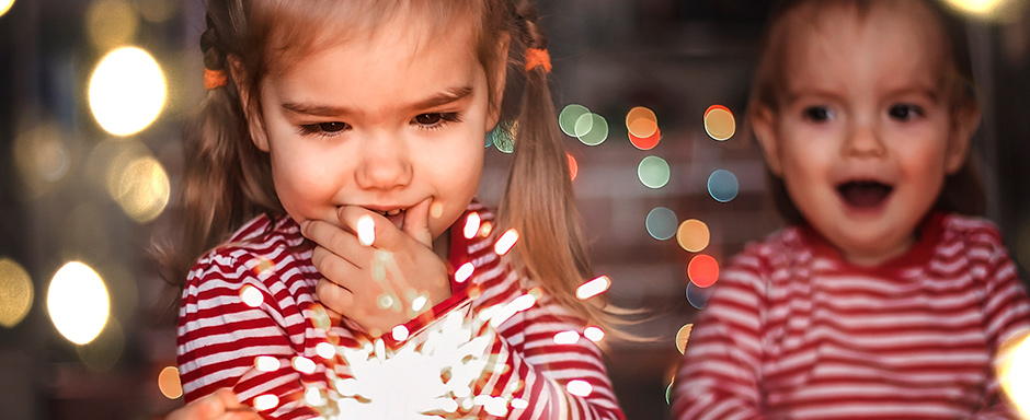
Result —
[[[178,266],[186,401],[230,387],[265,417],[314,417],[311,389],[354,373],[327,343],[396,348],[528,298],[453,416],[622,418],[594,342],[556,343],[607,317],[574,296],[591,270],[536,20],[520,0],[208,1]],[[494,220],[473,194],[510,77],[525,86]]]

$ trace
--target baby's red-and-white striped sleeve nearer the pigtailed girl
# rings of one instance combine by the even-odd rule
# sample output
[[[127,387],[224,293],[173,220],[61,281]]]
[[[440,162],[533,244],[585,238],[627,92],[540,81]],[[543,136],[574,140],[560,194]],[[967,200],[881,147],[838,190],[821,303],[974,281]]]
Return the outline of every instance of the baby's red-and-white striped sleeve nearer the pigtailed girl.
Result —
[[[736,256],[694,325],[676,374],[677,419],[760,419],[763,259]]]

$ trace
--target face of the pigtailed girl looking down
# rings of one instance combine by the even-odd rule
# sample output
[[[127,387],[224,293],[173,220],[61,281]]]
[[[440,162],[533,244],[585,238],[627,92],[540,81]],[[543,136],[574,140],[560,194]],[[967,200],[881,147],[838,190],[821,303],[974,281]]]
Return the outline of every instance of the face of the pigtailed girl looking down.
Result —
[[[432,199],[436,238],[476,194],[500,94],[488,104],[471,31],[423,31],[413,20],[393,19],[262,81],[264,129],[252,131],[267,136],[254,142],[271,154],[276,194],[298,223],[339,225],[340,207],[359,206],[403,228],[416,222],[405,210]]]

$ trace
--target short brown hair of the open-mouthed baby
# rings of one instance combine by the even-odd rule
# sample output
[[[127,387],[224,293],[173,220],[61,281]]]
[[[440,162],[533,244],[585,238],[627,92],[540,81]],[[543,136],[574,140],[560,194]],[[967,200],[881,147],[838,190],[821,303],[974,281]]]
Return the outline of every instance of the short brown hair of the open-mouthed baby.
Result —
[[[854,8],[859,19],[865,19],[869,10],[877,4],[888,2],[912,2],[913,0],[781,0],[774,3],[762,37],[762,52],[758,67],[752,81],[752,93],[747,104],[748,122],[757,117],[760,109],[779,110],[779,101],[783,95],[782,59],[787,42],[787,21],[791,13],[800,11],[815,15],[829,8]],[[942,48],[947,59],[947,80],[951,83],[952,127],[963,113],[978,113],[980,105],[976,88],[973,83],[970,50],[966,44],[964,23],[943,10],[937,2],[920,1],[935,16],[934,24],[942,35]],[[804,9],[808,8],[808,9]],[[966,161],[954,174],[945,179],[934,210],[982,215],[986,206],[983,183],[977,171],[974,153],[968,153]],[[788,223],[803,223],[804,219],[787,194],[783,179],[766,171],[768,190],[780,217]]]

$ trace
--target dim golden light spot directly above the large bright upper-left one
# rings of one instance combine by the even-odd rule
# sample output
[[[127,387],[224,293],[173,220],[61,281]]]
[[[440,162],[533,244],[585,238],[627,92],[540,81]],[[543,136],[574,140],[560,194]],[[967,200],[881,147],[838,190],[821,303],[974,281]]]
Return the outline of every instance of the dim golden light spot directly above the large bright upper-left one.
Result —
[[[85,12],[85,27],[93,46],[104,50],[131,44],[139,28],[139,16],[126,1],[93,1]]]

